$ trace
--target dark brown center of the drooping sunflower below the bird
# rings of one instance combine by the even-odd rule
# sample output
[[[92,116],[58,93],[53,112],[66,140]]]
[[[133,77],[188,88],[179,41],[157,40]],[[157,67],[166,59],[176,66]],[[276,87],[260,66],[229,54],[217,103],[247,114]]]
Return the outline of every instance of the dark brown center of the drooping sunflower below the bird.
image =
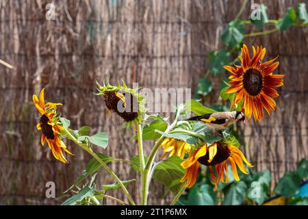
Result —
[[[214,157],[214,159],[211,160],[211,163],[208,162],[209,159],[209,153],[207,153],[205,156],[200,157],[198,159],[198,162],[205,165],[205,166],[214,166],[216,164],[220,164],[224,162],[228,157],[230,156],[230,150],[228,149],[228,146],[226,144],[222,144],[221,142],[217,143],[217,153]]]

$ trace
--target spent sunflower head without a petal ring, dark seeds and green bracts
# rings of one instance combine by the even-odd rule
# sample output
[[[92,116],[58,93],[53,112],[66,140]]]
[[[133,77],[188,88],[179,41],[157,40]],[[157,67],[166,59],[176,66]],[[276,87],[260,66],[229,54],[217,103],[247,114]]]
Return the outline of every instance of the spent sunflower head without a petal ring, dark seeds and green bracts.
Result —
[[[131,126],[134,123],[142,121],[142,114],[145,113],[144,109],[144,96],[138,92],[139,88],[128,88],[125,82],[118,86],[112,86],[109,82],[103,86],[97,83],[98,95],[103,95],[105,104],[110,112],[116,112],[122,117],[127,125]]]

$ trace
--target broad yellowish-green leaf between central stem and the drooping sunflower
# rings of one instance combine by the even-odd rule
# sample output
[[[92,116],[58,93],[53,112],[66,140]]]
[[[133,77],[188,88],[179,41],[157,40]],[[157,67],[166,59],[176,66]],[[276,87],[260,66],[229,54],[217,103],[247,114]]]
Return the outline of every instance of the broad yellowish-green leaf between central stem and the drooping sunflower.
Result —
[[[166,185],[173,194],[177,194],[183,186],[180,182],[185,173],[185,169],[181,167],[182,162],[183,159],[177,156],[168,157],[159,162],[153,172],[153,179]]]

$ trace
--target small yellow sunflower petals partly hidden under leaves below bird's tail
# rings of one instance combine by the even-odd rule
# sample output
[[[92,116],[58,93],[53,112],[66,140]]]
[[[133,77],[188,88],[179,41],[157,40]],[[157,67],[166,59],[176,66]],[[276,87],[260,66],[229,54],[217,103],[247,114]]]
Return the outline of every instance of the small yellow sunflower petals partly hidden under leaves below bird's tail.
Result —
[[[183,140],[177,140],[175,138],[165,138],[160,144],[162,148],[164,149],[164,154],[160,159],[163,159],[168,153],[168,157],[171,157],[172,155],[177,155],[178,157],[181,157],[181,159],[184,158],[185,153],[189,153],[192,149],[192,145],[184,142]]]

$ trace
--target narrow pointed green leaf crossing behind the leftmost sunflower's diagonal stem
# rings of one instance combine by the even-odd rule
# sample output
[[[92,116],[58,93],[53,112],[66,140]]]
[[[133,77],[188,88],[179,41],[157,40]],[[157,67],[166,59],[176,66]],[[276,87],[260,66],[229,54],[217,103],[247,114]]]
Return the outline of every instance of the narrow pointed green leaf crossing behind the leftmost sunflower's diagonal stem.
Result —
[[[99,158],[101,158],[103,162],[105,162],[106,164],[114,160],[112,157],[108,157],[107,155],[104,155],[102,153],[97,153],[97,156],[99,156]],[[97,161],[97,159],[95,158],[90,159],[90,162],[88,162],[88,164],[86,165],[86,170],[82,171],[81,176],[78,177],[76,182],[73,185],[71,185],[70,188],[68,188],[68,190],[74,188],[75,185],[78,185],[79,183],[81,183],[81,181],[84,181],[84,179],[86,179],[88,176],[94,175],[94,173],[99,171],[100,168],[101,164]],[[68,190],[66,190],[64,193],[68,192]]]

